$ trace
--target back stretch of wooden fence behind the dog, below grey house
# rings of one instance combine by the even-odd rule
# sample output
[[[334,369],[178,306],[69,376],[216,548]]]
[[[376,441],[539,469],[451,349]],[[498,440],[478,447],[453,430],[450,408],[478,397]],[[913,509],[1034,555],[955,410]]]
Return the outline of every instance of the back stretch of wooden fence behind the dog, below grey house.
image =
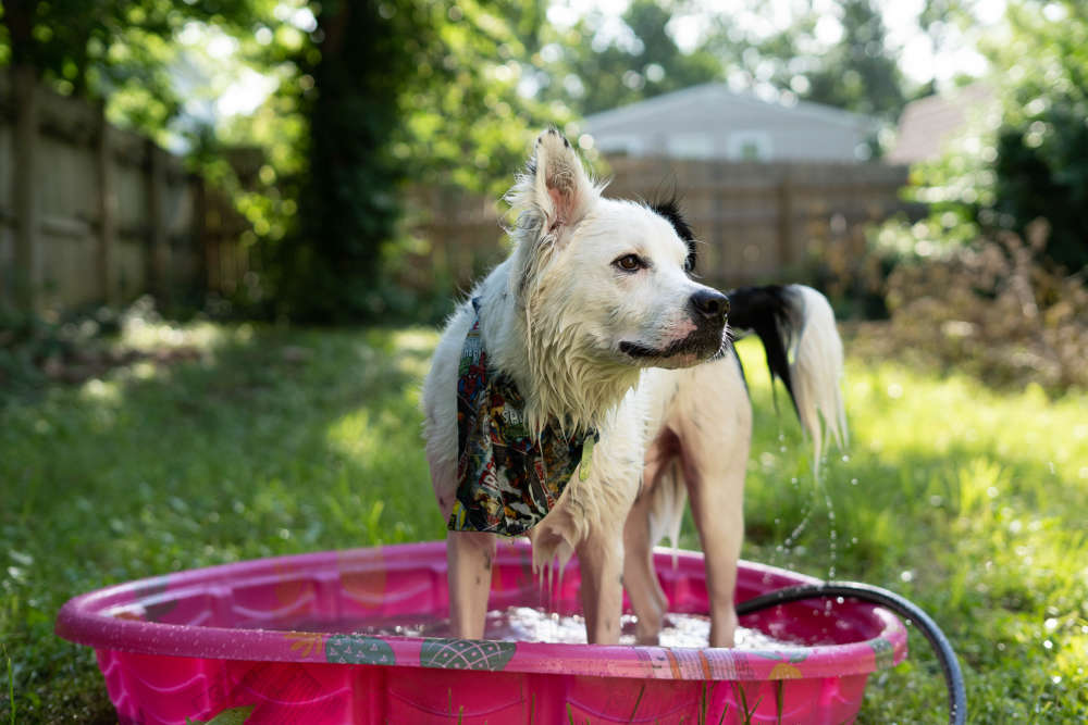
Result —
[[[721,287],[796,279],[831,247],[856,258],[865,253],[864,226],[917,211],[899,198],[906,166],[631,158],[608,159],[607,166],[606,196],[653,200],[677,190],[703,242],[700,274]],[[448,274],[463,288],[502,258],[504,208],[494,200],[429,189],[416,204],[425,243],[408,284]]]

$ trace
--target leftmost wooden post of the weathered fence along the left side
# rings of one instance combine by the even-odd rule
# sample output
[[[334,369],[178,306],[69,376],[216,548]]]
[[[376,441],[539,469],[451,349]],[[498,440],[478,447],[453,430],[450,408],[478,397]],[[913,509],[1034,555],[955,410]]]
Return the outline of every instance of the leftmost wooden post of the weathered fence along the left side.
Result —
[[[15,213],[15,304],[34,312],[38,309],[41,283],[41,239],[38,214],[38,79],[34,68],[12,68],[15,107],[14,153],[11,167],[12,202]]]

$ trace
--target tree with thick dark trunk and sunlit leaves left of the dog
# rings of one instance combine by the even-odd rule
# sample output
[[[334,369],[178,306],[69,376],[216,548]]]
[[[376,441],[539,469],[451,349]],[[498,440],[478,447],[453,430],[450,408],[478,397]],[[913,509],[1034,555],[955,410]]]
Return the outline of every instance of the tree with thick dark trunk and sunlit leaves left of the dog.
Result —
[[[313,3],[312,90],[297,225],[277,252],[281,312],[384,318],[411,182],[491,188],[508,179],[533,128],[562,121],[517,92],[542,2],[325,0]],[[408,300],[408,304],[412,301]]]

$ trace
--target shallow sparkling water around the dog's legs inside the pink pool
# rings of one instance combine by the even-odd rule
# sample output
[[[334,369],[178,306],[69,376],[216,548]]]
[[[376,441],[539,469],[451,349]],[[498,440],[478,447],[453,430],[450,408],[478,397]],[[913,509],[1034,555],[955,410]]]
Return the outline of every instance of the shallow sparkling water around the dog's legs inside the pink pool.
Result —
[[[634,645],[635,617],[625,614],[620,620],[620,645]],[[366,622],[297,621],[289,626],[260,625],[265,629],[301,632],[349,632],[371,637],[449,637],[449,621],[426,615],[398,616]],[[710,617],[702,614],[669,613],[662,628],[662,647],[704,648],[710,635]],[[585,643],[585,620],[578,614],[555,614],[532,607],[510,607],[487,612],[484,628],[486,639],[519,642]],[[798,647],[799,642],[775,639],[758,629],[738,627],[737,647],[772,649]]]

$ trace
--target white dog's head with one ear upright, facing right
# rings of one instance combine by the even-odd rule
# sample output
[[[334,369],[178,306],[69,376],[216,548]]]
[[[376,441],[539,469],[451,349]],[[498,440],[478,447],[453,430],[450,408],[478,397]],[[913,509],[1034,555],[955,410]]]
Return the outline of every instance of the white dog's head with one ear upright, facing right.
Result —
[[[519,213],[511,292],[531,338],[593,364],[685,367],[717,353],[729,302],[691,278],[675,201],[605,199],[555,129],[507,199]]]

